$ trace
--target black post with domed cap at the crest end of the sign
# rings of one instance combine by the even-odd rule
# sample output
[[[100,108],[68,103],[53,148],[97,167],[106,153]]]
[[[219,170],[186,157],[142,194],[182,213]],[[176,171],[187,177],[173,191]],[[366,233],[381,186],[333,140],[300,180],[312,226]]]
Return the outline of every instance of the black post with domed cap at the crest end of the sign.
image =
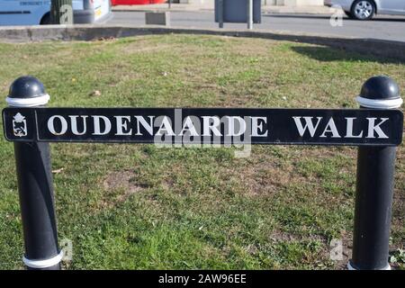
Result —
[[[49,102],[49,94],[38,79],[22,76],[10,86],[6,102],[13,107],[41,106]],[[27,132],[24,123],[21,119],[21,133]],[[23,219],[23,263],[28,269],[59,270],[62,252],[58,247],[49,143],[14,142],[14,154]]]

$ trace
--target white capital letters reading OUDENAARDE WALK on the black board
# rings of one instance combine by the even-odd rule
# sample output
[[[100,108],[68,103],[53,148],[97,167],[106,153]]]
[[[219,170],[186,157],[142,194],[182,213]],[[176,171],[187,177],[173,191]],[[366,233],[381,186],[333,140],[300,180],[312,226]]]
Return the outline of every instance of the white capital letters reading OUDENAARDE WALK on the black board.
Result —
[[[291,118],[290,118],[291,117]],[[305,139],[388,139],[384,123],[390,118],[378,117],[317,117],[290,116],[296,130],[285,131],[292,137]],[[173,121],[173,122],[172,122]],[[175,126],[178,121],[178,126]],[[175,137],[233,137],[244,136],[266,138],[271,131],[266,116],[186,116],[184,119],[171,119],[163,116],[139,115],[52,115],[47,120],[51,134],[60,136],[175,136]],[[284,122],[276,129],[284,129]],[[291,129],[291,123],[285,122],[285,129]],[[273,129],[273,128],[271,128]],[[280,133],[278,131],[277,133]],[[283,132],[284,133],[284,132]],[[298,134],[297,134],[298,133]],[[276,136],[279,137],[279,136]],[[188,139],[189,140],[189,139]],[[199,139],[197,141],[200,141]]]

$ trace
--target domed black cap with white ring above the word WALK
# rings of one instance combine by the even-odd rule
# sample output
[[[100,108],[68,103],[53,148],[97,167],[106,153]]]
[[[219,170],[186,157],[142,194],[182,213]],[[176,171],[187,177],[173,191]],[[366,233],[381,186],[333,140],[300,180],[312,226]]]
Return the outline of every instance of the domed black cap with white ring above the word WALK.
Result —
[[[389,76],[374,76],[365,81],[357,103],[365,108],[394,109],[400,108],[402,99],[400,87]]]

